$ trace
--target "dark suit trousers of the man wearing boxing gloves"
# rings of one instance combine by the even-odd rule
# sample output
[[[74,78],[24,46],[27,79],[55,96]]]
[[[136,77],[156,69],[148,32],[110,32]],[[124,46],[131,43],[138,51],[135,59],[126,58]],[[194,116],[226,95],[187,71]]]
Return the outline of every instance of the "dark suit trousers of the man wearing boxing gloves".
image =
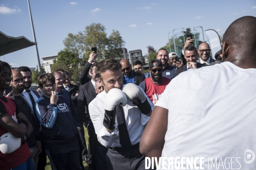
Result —
[[[145,156],[140,153],[139,148],[134,148],[128,158],[122,156],[122,152],[108,149],[106,162],[108,170],[145,170]]]

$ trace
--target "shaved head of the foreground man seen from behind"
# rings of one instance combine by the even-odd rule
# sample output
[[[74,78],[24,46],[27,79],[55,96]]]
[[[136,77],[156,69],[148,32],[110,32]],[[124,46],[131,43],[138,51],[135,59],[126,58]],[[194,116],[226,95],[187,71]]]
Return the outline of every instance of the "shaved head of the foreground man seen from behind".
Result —
[[[256,17],[245,16],[235,20],[224,33],[222,55],[225,61],[242,68],[256,68]]]

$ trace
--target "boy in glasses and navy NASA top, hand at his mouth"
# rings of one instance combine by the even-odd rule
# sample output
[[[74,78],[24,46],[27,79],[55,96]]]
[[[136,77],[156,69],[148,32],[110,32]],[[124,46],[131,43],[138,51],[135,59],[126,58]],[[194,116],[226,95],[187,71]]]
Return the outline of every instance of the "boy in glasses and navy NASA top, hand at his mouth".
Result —
[[[73,117],[67,99],[56,94],[52,74],[38,77],[38,85],[44,95],[35,102],[36,114],[42,125],[44,145],[52,168],[81,170],[76,138],[81,125]]]

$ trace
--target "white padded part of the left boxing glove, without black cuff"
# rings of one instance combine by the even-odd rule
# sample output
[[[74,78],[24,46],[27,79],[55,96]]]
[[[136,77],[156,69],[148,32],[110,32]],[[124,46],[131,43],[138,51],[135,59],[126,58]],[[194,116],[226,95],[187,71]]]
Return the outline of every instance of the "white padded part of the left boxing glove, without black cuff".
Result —
[[[125,106],[126,103],[125,94],[118,88],[112,88],[106,95],[104,108],[107,111],[113,111],[116,105]]]

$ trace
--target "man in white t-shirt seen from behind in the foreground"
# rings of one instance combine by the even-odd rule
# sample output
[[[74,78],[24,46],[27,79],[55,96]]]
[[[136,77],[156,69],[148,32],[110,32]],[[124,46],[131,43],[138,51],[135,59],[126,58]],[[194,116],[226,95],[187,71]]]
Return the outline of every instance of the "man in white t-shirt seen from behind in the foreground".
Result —
[[[223,36],[225,62],[166,86],[140,141],[143,155],[161,157],[159,169],[255,170],[255,30],[256,17],[234,21]]]

